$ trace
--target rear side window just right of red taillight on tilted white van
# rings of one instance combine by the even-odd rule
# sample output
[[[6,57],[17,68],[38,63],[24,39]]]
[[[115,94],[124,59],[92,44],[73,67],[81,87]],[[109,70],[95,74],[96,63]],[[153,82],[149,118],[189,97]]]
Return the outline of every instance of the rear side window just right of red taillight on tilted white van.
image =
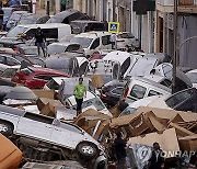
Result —
[[[137,99],[142,99],[146,93],[146,88],[135,84],[130,91],[130,95]]]

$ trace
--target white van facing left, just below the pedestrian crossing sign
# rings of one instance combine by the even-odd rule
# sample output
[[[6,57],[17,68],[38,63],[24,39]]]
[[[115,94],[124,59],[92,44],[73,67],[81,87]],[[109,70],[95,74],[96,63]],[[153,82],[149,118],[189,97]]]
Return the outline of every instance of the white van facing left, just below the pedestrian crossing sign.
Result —
[[[88,58],[100,49],[112,49],[111,34],[108,32],[81,33],[72,37],[70,42],[80,44]]]

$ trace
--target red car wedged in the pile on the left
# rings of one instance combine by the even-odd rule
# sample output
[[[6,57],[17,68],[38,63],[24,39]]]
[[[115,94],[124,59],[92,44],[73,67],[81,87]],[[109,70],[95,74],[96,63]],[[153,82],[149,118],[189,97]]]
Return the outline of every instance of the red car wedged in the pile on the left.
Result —
[[[22,83],[30,89],[42,89],[51,77],[69,77],[67,74],[48,68],[27,67],[16,72],[13,82]]]

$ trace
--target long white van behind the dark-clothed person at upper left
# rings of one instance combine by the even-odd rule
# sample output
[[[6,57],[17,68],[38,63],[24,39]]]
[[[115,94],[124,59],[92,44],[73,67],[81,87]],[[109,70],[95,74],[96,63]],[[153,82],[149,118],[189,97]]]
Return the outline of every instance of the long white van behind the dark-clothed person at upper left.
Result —
[[[5,37],[1,38],[12,38],[25,35],[27,37],[34,37],[36,29],[40,27],[44,32],[46,38],[57,38],[61,40],[65,35],[71,34],[71,27],[69,24],[63,23],[47,23],[47,24],[26,24],[18,25],[14,29],[10,30]]]

